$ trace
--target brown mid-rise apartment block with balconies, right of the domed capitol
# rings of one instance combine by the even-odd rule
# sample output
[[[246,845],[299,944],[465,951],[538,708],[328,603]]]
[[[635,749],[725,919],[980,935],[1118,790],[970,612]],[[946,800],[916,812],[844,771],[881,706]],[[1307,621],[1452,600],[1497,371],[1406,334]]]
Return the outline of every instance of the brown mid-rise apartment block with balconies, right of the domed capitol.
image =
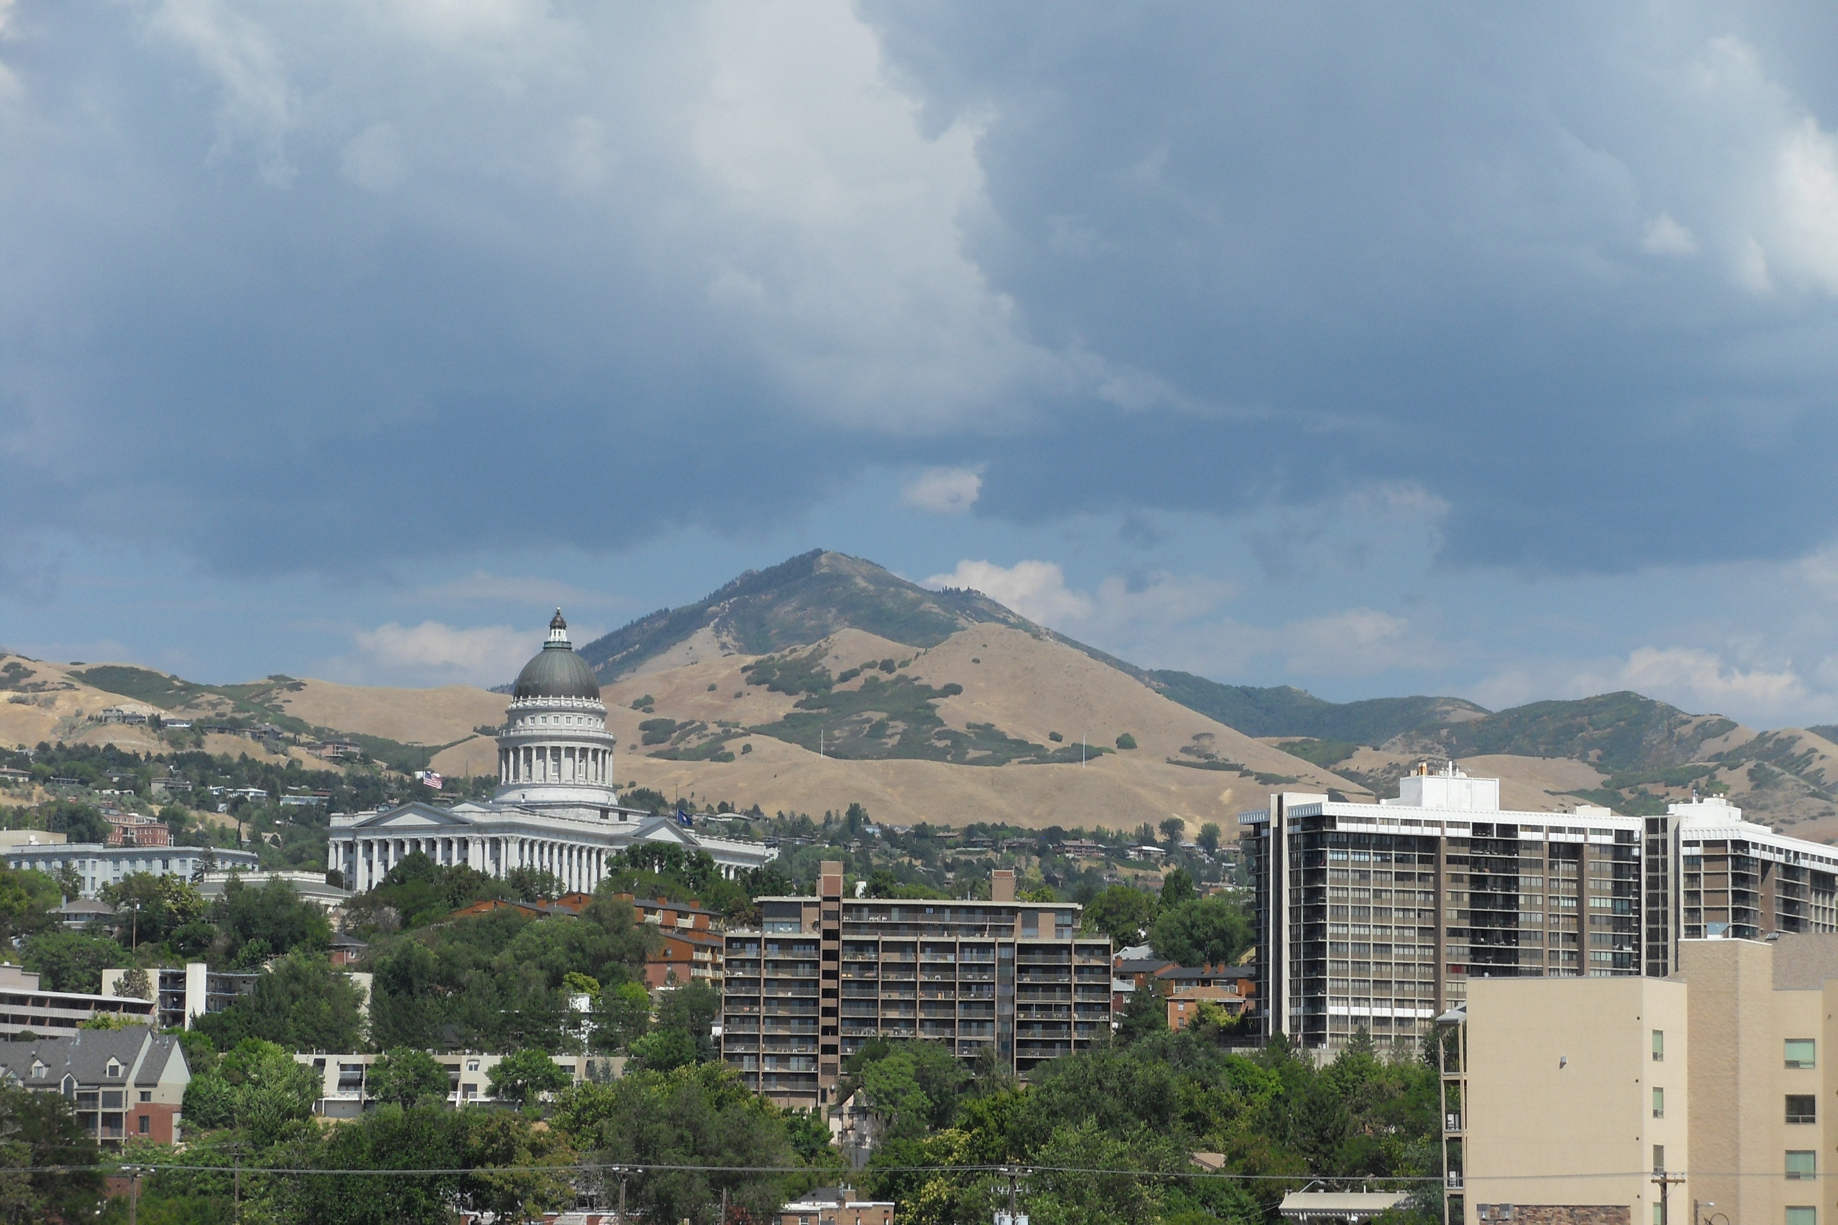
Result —
[[[726,935],[722,1058],[781,1106],[834,1104],[842,1060],[875,1036],[941,1041],[1026,1073],[1110,1036],[1110,940],[1081,907],[845,898],[823,863],[816,896],[759,898],[761,929]]]

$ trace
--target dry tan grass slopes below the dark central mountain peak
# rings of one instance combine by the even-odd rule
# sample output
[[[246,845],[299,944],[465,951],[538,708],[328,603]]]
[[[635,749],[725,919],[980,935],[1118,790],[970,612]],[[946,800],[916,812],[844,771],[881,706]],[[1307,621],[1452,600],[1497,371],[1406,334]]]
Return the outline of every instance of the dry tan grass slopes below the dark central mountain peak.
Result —
[[[1288,786],[1347,792],[1356,784],[1162,698],[1136,680],[1088,656],[1022,630],[987,624],[961,630],[945,643],[917,650],[860,630],[842,630],[818,645],[833,676],[880,659],[906,663],[902,672],[961,694],[937,702],[947,725],[996,724],[1011,736],[1048,744],[1112,746],[1130,733],[1132,751],[1094,753],[1079,764],[959,766],[936,760],[836,760],[754,735],[728,742],[733,762],[678,762],[649,757],[640,722],[730,720],[759,725],[792,709],[790,694],[748,685],[741,669],[755,656],[722,656],[676,669],[641,672],[605,689],[608,724],[619,736],[619,779],[686,799],[757,803],[766,812],[823,812],[851,801],[886,821],[1005,821],[1024,826],[1136,826],[1182,817],[1189,828],[1231,823],[1241,808],[1263,801],[1261,786],[1237,771],[1167,764],[1182,747],[1202,746],[1254,771],[1296,779]],[[840,689],[858,689],[860,680]],[[649,696],[651,713],[630,709]],[[741,753],[741,746],[752,746]],[[654,749],[652,749],[654,751]],[[445,757],[445,755],[443,755]]]

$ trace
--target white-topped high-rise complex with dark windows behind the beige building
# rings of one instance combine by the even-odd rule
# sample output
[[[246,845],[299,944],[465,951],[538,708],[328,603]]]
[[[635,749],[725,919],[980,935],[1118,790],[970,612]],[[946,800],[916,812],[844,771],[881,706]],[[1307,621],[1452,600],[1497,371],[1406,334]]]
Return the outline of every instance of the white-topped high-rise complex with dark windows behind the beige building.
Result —
[[[1450,764],[1377,804],[1283,792],[1239,825],[1259,1017],[1303,1047],[1415,1041],[1476,977],[1665,977],[1682,938],[1838,929],[1838,850],[1722,799],[1513,812]]]

